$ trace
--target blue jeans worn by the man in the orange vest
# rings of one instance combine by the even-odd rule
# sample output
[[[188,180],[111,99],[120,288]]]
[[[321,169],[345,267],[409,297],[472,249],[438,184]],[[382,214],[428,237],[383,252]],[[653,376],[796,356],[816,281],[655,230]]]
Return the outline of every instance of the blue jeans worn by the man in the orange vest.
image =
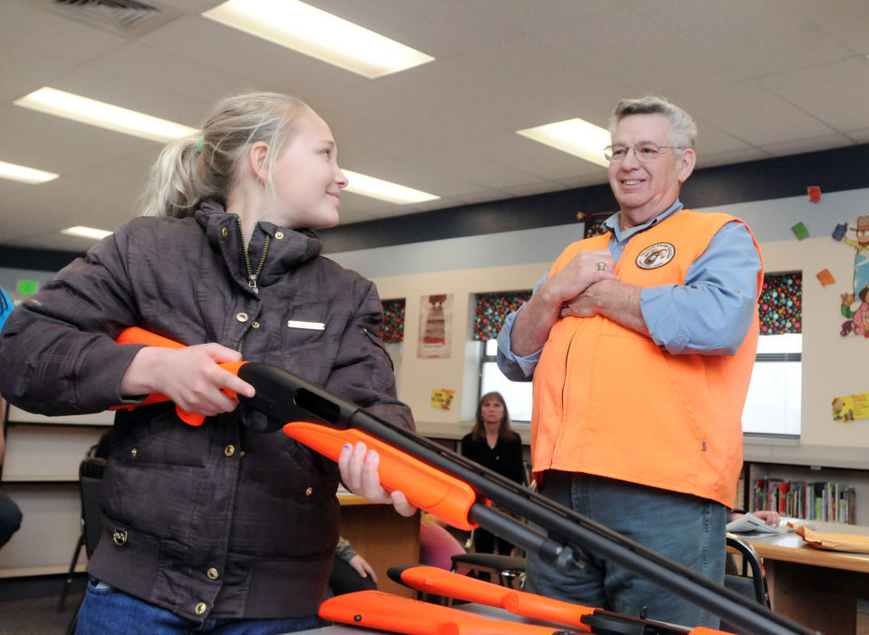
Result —
[[[724,581],[727,508],[664,489],[549,470],[540,493],[714,582]],[[718,618],[625,568],[581,550],[586,570],[563,575],[529,554],[527,589],[551,598],[682,626],[718,627]]]

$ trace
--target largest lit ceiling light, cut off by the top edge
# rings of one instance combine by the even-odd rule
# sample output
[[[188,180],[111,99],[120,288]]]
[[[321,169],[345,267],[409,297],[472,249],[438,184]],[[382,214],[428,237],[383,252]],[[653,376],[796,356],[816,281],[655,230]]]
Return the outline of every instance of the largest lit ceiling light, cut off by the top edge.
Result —
[[[369,80],[435,59],[298,0],[228,0],[203,16]]]

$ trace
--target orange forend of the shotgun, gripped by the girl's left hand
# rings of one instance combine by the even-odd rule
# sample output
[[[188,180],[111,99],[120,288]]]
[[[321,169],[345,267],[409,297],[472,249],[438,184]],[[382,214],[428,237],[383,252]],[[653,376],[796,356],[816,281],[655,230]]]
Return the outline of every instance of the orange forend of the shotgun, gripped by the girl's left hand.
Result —
[[[384,441],[355,428],[337,430],[310,422],[291,422],[283,431],[331,460],[338,460],[345,444],[362,441],[368,450],[380,456],[380,483],[388,491],[400,489],[416,507],[443,518],[452,526],[470,531],[477,525],[468,519],[468,511],[477,495],[470,485],[423,461],[396,450]]]

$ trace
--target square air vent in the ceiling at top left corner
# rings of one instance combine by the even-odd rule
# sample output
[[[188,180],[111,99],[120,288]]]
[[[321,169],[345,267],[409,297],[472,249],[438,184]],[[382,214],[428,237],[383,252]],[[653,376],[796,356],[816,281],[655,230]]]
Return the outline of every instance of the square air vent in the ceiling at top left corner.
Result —
[[[50,8],[78,22],[124,35],[141,35],[181,12],[139,0],[52,0]]]

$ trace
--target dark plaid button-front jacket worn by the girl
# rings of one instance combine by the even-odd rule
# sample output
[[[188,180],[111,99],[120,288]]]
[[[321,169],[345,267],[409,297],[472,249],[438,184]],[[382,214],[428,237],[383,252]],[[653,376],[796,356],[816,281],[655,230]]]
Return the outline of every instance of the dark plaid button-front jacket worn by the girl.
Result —
[[[263,261],[258,294],[238,219],[219,205],[123,225],[7,320],[0,392],[45,414],[130,403],[119,384],[139,346],[114,338],[140,326],[235,348],[413,429],[374,284],[320,257],[310,232],[258,223],[248,251],[254,267]],[[248,430],[238,410],[196,428],[171,403],[119,412],[88,571],[192,620],[313,615],[338,543],[337,485],[333,462]]]

